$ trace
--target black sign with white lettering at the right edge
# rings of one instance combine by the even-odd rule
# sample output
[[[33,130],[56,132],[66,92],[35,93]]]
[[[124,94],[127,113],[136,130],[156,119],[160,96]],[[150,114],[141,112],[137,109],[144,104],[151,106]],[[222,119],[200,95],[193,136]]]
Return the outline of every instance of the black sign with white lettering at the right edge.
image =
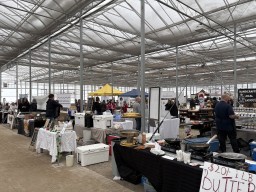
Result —
[[[238,89],[238,102],[256,103],[256,89]]]

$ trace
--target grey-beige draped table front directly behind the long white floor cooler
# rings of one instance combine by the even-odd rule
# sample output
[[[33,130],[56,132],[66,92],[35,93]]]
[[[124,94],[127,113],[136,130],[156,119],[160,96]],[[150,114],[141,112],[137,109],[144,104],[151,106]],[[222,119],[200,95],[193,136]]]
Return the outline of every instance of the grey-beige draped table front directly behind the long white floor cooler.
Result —
[[[106,136],[110,134],[118,134],[118,129],[101,129],[101,128],[91,128],[92,130],[92,139],[99,143],[106,143]]]

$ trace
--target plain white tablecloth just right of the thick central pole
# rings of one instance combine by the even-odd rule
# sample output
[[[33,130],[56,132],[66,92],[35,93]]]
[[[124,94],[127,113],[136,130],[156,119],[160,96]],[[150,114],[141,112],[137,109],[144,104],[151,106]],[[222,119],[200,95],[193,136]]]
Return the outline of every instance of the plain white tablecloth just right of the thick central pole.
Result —
[[[150,133],[154,132],[156,127],[150,127]],[[165,119],[160,126],[160,136],[165,138],[177,138],[179,135],[179,127],[180,127],[180,119],[174,118],[174,119]]]

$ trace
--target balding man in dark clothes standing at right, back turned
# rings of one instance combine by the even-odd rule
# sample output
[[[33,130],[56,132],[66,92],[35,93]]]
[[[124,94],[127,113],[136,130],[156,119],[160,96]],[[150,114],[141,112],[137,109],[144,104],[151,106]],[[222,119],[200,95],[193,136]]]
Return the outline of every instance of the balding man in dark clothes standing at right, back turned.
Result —
[[[215,120],[217,126],[217,135],[220,142],[221,152],[226,152],[227,136],[230,140],[232,149],[235,153],[239,153],[239,147],[236,140],[236,125],[235,119],[239,116],[235,115],[232,106],[229,104],[230,96],[222,95],[221,101],[215,106]]]

